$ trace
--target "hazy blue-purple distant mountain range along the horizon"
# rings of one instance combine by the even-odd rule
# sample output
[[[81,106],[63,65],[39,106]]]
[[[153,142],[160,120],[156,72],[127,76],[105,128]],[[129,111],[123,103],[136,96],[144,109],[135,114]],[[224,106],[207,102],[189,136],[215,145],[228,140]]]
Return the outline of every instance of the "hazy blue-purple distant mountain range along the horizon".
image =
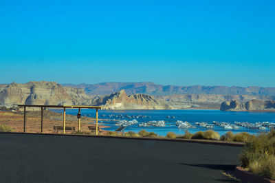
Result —
[[[63,84],[65,87],[84,89],[88,95],[107,95],[124,89],[127,94],[149,94],[165,96],[173,94],[217,94],[217,95],[250,95],[275,96],[275,87],[225,87],[225,86],[173,86],[142,83],[98,83],[98,84]]]

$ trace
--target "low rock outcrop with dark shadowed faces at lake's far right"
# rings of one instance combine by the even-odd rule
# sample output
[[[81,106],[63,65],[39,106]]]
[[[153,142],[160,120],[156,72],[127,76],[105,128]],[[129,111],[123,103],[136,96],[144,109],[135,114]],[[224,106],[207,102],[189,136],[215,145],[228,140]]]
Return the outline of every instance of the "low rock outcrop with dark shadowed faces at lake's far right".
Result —
[[[275,111],[275,100],[250,100],[239,103],[236,100],[221,103],[221,111]]]

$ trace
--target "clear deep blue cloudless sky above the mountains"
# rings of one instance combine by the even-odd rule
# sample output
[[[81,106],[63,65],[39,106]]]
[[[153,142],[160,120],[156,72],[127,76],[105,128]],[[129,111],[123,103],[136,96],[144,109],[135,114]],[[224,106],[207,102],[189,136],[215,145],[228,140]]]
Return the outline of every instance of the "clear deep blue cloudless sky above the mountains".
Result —
[[[1,1],[0,83],[275,87],[275,1]]]

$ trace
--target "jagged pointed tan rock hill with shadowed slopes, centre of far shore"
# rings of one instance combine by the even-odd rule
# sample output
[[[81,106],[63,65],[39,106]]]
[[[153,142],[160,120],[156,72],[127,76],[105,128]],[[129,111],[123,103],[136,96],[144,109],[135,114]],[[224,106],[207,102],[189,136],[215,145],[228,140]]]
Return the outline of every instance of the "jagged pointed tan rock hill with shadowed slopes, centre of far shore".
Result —
[[[107,107],[107,109],[167,109],[167,105],[155,100],[153,96],[146,94],[126,95],[124,89],[97,98],[93,104]]]

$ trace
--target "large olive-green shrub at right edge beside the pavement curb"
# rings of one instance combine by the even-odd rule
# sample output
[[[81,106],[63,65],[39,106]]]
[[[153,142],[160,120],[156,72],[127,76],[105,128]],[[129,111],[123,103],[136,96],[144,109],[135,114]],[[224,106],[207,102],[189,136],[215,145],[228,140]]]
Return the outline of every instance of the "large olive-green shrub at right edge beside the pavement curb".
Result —
[[[253,173],[275,179],[275,133],[261,133],[251,136],[243,147],[240,159],[241,166]]]

